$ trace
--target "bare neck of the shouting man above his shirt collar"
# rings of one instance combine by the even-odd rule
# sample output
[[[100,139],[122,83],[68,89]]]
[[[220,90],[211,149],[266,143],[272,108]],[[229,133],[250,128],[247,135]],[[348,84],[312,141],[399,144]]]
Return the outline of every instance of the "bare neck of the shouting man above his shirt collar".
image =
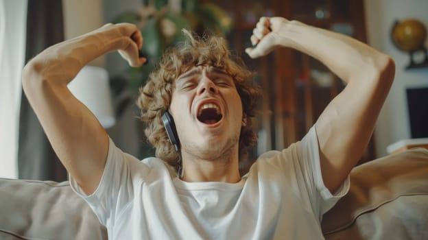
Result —
[[[238,149],[216,158],[201,158],[182,152],[182,180],[186,182],[230,182],[241,180]]]

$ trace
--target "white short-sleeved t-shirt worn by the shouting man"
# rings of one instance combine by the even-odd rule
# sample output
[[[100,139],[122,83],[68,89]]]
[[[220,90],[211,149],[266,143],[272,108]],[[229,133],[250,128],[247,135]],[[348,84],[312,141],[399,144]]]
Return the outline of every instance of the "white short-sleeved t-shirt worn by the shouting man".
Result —
[[[349,189],[349,179],[334,196],[324,187],[314,128],[235,184],[184,182],[163,160],[140,161],[111,140],[95,192],[70,182],[109,239],[323,239],[322,214]]]

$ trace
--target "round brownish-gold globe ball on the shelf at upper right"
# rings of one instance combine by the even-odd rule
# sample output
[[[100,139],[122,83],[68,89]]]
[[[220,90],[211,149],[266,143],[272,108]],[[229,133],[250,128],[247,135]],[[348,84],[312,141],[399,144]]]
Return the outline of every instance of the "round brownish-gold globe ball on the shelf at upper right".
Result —
[[[424,48],[427,29],[415,19],[397,21],[392,27],[392,39],[396,47],[403,51],[417,51]]]

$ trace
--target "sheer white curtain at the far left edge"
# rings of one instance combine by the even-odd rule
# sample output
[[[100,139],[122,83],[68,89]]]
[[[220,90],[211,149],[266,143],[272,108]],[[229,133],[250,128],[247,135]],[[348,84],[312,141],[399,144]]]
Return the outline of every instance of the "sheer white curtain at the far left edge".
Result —
[[[0,178],[17,178],[27,0],[0,0]]]

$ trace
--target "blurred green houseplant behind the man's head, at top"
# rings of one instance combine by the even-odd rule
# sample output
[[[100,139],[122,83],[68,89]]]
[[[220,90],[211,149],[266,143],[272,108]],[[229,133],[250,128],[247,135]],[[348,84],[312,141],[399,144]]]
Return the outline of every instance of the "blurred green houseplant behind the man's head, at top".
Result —
[[[142,8],[119,14],[114,23],[134,23],[143,34],[143,53],[150,61],[142,68],[130,68],[128,86],[137,91],[153,71],[162,53],[182,40],[181,29],[226,36],[232,29],[227,12],[209,1],[143,0]]]

